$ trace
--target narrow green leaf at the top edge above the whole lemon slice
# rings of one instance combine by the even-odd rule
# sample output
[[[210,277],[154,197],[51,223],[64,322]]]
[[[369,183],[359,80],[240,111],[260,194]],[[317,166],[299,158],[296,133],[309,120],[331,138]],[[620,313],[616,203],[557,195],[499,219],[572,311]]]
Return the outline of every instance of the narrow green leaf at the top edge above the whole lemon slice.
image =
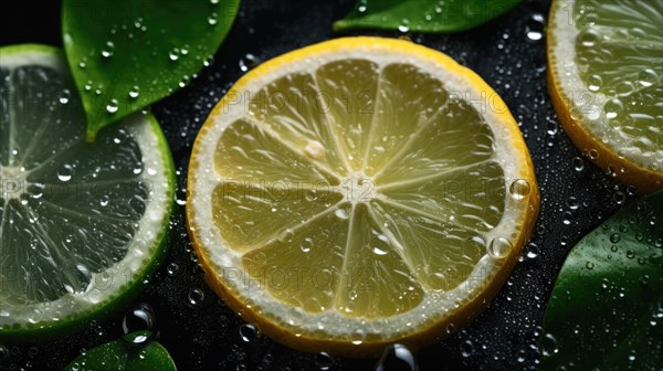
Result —
[[[459,32],[475,28],[518,4],[520,0],[359,0],[334,23],[334,30],[399,30]]]

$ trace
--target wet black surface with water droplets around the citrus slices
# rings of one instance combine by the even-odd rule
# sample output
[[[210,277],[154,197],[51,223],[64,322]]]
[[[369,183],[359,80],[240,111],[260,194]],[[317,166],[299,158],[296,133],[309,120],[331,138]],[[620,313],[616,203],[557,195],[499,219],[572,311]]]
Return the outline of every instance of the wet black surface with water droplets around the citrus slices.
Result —
[[[243,74],[240,61],[248,53],[265,61],[339,36],[332,31],[332,22],[343,18],[352,2],[243,1],[214,63],[190,86],[152,107],[176,159],[180,200],[186,195],[186,169],[196,134],[225,89]],[[39,10],[32,2],[18,6],[22,11],[2,11],[0,45],[62,44],[59,4],[40,4]],[[471,67],[504,98],[525,136],[541,193],[540,216],[532,242],[507,284],[476,320],[417,354],[422,371],[536,368],[540,358],[535,341],[538,326],[565,256],[583,234],[632,199],[627,187],[582,158],[559,126],[545,80],[546,40],[533,40],[544,31],[548,8],[548,1],[524,1],[504,17],[470,32],[408,34],[414,42],[443,51]],[[532,38],[528,32],[533,32]],[[180,370],[319,370],[329,362],[332,370],[375,369],[375,359],[329,361],[265,337],[242,340],[242,320],[202,279],[186,235],[183,205],[178,205],[173,216],[172,235],[167,262],[134,305],[147,303],[154,308],[159,340]],[[176,272],[169,274],[175,266]],[[202,290],[204,298],[198,297],[197,304],[191,304],[192,289]],[[119,314],[109,321],[91,324],[83,333],[34,347],[4,344],[9,354],[0,353],[0,370],[62,369],[82,349],[118,338],[122,318]]]

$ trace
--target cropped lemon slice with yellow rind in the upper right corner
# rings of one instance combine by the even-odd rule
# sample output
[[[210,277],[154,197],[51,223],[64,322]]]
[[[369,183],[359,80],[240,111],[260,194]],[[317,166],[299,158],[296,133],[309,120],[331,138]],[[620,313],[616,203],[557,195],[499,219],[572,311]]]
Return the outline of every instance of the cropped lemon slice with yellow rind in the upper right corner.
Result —
[[[663,189],[663,2],[555,1],[552,104],[573,144],[604,171]]]

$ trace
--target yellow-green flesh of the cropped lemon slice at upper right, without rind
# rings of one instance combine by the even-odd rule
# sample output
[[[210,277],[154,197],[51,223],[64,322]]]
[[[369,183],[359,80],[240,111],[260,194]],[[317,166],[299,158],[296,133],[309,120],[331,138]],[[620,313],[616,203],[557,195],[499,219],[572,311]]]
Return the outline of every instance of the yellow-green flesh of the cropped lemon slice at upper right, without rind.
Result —
[[[606,96],[602,110],[614,134],[662,171],[655,157],[663,148],[663,3],[583,0],[572,15],[585,85]]]

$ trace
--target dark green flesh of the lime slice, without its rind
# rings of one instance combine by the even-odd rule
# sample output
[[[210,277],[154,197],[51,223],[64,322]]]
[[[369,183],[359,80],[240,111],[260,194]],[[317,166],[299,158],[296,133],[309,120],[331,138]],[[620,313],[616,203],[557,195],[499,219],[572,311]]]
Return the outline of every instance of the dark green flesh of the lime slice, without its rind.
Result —
[[[0,77],[0,303],[85,293],[124,258],[145,213],[140,149],[122,127],[85,142],[61,72],[28,65]]]

